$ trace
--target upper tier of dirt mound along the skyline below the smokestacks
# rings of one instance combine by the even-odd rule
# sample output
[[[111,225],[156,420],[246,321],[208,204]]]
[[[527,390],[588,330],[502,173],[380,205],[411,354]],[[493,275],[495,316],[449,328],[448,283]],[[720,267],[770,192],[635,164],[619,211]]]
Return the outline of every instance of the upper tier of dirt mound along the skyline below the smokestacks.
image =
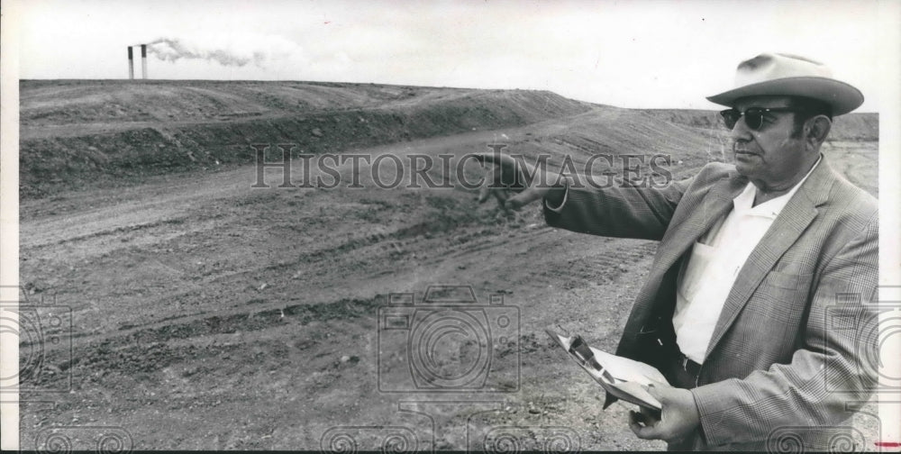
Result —
[[[309,114],[452,95],[412,86],[204,80],[23,80],[20,88],[25,126]]]

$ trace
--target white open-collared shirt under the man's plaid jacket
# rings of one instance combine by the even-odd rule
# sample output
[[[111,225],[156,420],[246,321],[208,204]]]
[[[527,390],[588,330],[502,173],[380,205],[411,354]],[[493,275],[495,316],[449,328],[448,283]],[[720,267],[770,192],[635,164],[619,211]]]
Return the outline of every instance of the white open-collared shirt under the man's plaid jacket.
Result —
[[[716,321],[739,271],[797,188],[819,164],[817,159],[787,194],[757,206],[753,206],[756,187],[749,182],[742,194],[733,199],[733,210],[695,242],[690,258],[679,272],[673,315],[676,343],[688,359],[704,362]]]

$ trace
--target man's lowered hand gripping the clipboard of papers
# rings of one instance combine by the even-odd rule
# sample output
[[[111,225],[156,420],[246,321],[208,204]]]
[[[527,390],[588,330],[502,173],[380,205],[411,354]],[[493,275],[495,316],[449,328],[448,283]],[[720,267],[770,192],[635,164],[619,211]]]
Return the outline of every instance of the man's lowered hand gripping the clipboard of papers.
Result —
[[[650,386],[648,393],[660,401],[660,419],[650,412],[630,412],[629,427],[644,440],[676,441],[691,434],[700,424],[695,396],[691,391],[672,386]]]

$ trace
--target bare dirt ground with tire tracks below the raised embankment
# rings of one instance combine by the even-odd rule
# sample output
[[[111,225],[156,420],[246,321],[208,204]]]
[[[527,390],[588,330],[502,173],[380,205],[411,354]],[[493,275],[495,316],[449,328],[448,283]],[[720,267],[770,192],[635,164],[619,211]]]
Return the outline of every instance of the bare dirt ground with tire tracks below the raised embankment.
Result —
[[[578,151],[591,139],[575,131],[604,115],[355,152]],[[673,174],[703,165],[709,150],[687,150],[706,143],[719,142],[675,143]],[[833,142],[827,155],[876,193],[874,142]],[[23,298],[63,320],[42,334],[61,340],[23,347],[43,360],[22,396],[23,448],[57,431],[114,433],[134,449],[665,448],[633,436],[625,406],[602,410],[601,388],[544,333],[614,350],[655,242],[552,229],[537,207],[506,215],[460,187],[379,189],[365,166],[361,189],[266,176],[271,187],[252,188],[256,169],[241,166],[23,201]],[[430,287],[438,301],[471,289],[468,313],[494,327],[482,386],[423,386],[423,366],[405,365],[416,331],[380,329],[386,306],[414,321],[440,311],[423,302]],[[405,293],[414,304],[397,306]],[[480,345],[443,343],[432,367],[478,363]]]

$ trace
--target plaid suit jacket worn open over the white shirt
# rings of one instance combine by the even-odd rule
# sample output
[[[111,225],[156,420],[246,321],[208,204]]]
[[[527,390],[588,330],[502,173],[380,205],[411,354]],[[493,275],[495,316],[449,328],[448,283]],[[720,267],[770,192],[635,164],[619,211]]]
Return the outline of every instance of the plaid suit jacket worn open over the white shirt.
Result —
[[[678,268],[747,183],[733,166],[711,163],[663,189],[570,186],[559,209],[545,204],[555,227],[660,241],[617,354],[662,370],[674,360]],[[866,401],[875,386],[866,359],[877,343],[869,304],[877,283],[877,200],[824,157],[741,269],[692,389],[701,427],[678,448],[829,449],[848,440],[845,404]]]

